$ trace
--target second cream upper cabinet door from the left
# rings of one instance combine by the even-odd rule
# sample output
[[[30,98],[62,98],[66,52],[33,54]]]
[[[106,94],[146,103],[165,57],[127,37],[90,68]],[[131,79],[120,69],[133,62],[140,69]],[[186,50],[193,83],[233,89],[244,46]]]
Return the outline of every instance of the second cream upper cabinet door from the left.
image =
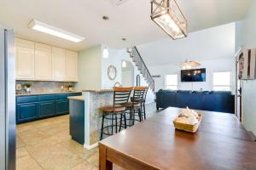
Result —
[[[35,73],[37,80],[51,80],[51,47],[35,43]]]

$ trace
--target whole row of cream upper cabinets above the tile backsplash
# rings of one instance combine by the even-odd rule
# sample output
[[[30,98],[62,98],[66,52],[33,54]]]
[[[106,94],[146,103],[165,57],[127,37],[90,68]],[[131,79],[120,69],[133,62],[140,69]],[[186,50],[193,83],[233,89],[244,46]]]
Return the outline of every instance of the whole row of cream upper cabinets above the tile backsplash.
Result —
[[[78,53],[16,38],[16,79],[78,82]]]

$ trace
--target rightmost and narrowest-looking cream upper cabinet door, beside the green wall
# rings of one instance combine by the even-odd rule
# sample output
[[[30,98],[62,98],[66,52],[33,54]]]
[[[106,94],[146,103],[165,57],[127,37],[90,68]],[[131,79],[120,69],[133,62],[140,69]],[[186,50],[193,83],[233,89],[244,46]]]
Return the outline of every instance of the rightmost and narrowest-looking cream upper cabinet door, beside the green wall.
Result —
[[[66,81],[78,82],[78,53],[66,50]]]

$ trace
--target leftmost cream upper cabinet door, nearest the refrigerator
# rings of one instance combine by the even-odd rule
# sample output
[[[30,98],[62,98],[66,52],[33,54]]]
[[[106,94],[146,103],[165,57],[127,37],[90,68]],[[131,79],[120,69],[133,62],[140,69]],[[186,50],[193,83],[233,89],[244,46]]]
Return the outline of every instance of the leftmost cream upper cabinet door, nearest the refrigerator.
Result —
[[[34,42],[16,39],[16,79],[35,78]]]

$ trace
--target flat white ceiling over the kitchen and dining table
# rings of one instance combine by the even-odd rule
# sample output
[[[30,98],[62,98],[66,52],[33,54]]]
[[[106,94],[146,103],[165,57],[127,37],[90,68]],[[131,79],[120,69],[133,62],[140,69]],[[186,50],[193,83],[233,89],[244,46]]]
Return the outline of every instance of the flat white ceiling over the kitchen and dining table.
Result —
[[[153,42],[168,36],[150,20],[150,0],[0,0],[0,23],[18,37],[80,50],[104,43],[113,48]],[[189,32],[241,20],[251,0],[177,0],[189,22]],[[107,14],[110,20],[102,20]],[[75,43],[27,27],[36,19],[86,37]],[[126,37],[127,41],[121,41]]]

